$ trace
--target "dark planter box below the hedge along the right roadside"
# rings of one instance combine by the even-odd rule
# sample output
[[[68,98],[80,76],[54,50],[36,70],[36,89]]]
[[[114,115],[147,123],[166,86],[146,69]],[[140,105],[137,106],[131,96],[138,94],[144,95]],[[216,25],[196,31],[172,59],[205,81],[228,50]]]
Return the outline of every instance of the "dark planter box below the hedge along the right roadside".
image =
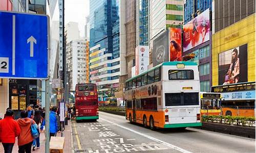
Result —
[[[195,128],[255,139],[255,127],[202,122],[201,127]]]

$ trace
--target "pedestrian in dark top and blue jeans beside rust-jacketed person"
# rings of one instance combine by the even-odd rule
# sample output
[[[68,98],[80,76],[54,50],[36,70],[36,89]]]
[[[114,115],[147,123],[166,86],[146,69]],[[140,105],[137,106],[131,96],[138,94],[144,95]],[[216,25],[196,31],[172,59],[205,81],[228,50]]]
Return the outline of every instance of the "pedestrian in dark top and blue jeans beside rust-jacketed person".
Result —
[[[37,127],[38,127],[37,131],[39,133],[39,123],[42,123],[42,116],[41,116],[41,111],[38,108],[39,106],[36,105],[34,110],[35,113],[34,113],[33,120],[37,124]],[[38,137],[33,140],[32,150],[34,151],[35,148],[36,149],[40,148],[40,133]]]

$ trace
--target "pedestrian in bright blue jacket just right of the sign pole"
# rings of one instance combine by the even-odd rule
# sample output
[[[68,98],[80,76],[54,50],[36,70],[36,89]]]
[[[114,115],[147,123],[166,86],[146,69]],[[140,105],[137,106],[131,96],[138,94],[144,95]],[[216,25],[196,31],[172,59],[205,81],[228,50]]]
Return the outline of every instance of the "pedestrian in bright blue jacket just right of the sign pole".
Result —
[[[56,133],[59,131],[60,122],[57,115],[57,107],[53,107],[50,112],[50,139],[51,137],[56,136]]]

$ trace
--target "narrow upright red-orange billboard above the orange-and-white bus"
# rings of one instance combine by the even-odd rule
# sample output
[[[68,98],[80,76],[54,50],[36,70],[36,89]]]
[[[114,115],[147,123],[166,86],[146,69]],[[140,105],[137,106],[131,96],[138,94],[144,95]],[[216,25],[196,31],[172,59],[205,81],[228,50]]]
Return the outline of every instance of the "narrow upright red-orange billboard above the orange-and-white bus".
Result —
[[[169,28],[169,46],[169,61],[182,61],[180,28]]]

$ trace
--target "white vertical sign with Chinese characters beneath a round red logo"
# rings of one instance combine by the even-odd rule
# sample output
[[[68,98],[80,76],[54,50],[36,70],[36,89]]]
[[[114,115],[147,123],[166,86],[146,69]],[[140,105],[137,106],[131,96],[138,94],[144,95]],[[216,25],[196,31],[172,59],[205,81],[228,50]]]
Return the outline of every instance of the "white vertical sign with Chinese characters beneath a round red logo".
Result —
[[[148,65],[150,65],[148,46],[137,46],[135,48],[135,75],[145,72]]]

